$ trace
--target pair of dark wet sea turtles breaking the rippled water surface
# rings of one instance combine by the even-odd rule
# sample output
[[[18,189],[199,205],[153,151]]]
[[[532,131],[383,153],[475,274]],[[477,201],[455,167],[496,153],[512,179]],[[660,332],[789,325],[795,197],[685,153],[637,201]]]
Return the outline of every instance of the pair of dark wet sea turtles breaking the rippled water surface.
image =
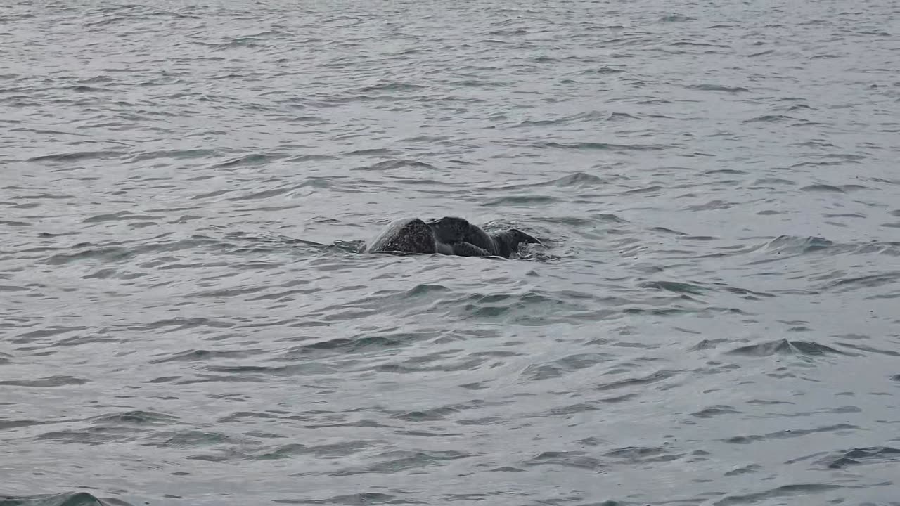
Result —
[[[488,233],[464,218],[445,216],[422,221],[392,221],[366,248],[368,253],[441,253],[461,257],[511,258],[522,243],[541,244],[527,233],[509,229]]]

